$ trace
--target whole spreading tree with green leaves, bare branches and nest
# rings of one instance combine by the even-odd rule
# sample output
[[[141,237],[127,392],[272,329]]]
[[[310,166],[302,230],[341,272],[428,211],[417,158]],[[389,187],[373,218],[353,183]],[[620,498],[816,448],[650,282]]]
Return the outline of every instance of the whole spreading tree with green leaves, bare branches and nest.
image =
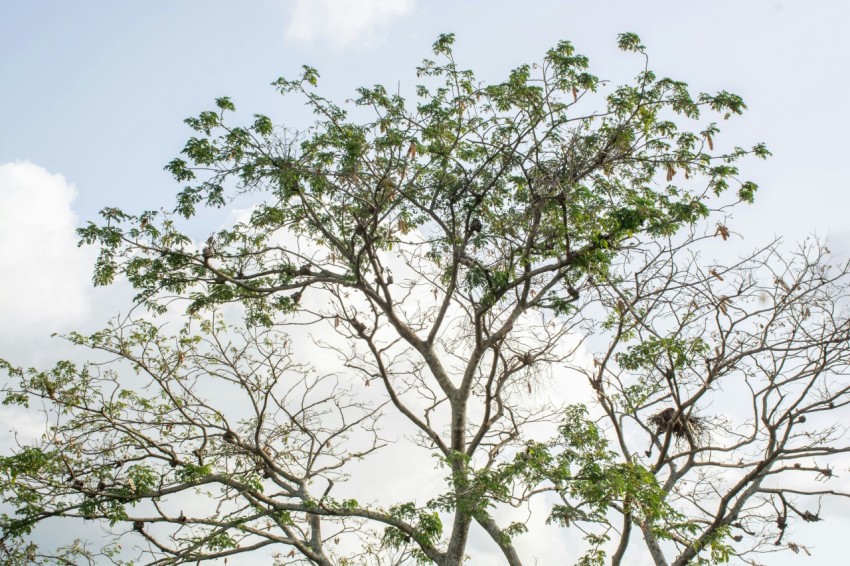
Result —
[[[518,565],[537,500],[584,534],[579,564],[807,551],[789,526],[847,496],[850,269],[814,240],[705,259],[754,198],[735,163],[768,155],[715,148],[703,115],[743,101],[648,66],[612,87],[568,42],[482,85],[452,42],[412,108],[376,86],[345,109],[308,67],[274,83],[306,131],[230,125],[218,99],[167,166],[173,212],[80,229],[95,284],[126,278],[149,314],[67,336],[90,363],[3,363],[5,403],[50,423],[0,461],[9,563],[124,563],[123,541],[162,564],[456,565],[477,536]],[[206,243],[181,231],[237,198]],[[418,453],[442,488],[363,477]],[[111,536],[37,544],[60,519]]]

